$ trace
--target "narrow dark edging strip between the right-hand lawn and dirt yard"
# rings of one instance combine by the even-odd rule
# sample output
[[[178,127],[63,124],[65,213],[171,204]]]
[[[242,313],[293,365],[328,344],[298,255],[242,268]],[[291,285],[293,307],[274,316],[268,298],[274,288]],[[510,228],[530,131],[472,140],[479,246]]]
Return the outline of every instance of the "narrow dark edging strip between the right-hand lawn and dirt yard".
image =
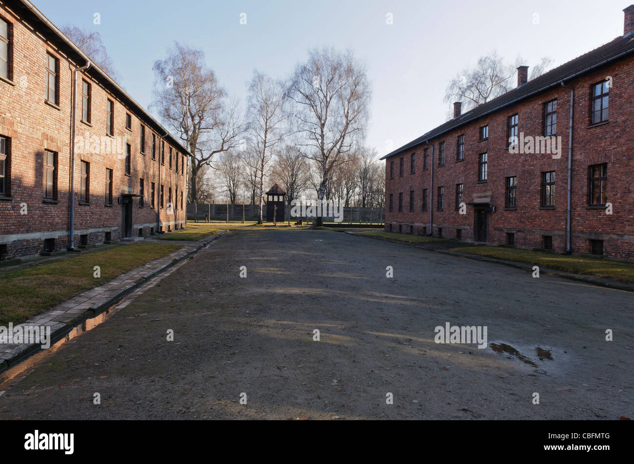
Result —
[[[344,233],[350,234],[350,235],[356,235],[358,237],[366,237],[368,239],[384,240],[386,242],[398,243],[401,245],[409,245],[415,248],[425,249],[427,251],[435,251],[436,253],[451,254],[453,256],[459,256],[460,258],[468,258],[469,260],[503,264],[505,266],[512,266],[514,268],[533,272],[533,265],[529,265],[526,263],[519,263],[517,261],[500,260],[498,258],[489,258],[488,256],[480,256],[479,254],[462,253],[460,251],[449,251],[446,249],[438,249],[437,247],[434,247],[434,246],[424,246],[420,243],[400,242],[398,240],[386,239],[384,237],[373,237],[372,235],[356,234],[351,231],[344,232]],[[584,282],[585,284],[597,285],[598,287],[606,287],[609,289],[617,289],[617,290],[624,290],[628,292],[634,292],[634,285],[627,284],[626,282],[620,282],[619,280],[602,279],[601,277],[591,277],[589,275],[574,274],[571,272],[564,272],[564,271],[548,269],[543,267],[540,267],[540,274],[555,275],[557,277],[564,277],[564,279],[578,280],[579,282]]]

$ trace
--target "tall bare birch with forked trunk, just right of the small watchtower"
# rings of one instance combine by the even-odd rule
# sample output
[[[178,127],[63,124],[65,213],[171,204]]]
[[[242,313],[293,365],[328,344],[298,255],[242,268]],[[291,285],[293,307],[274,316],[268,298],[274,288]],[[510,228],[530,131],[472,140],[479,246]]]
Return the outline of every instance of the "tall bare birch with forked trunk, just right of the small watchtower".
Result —
[[[320,169],[321,201],[333,167],[361,139],[368,120],[371,91],[365,65],[351,51],[313,50],[295,68],[287,94],[295,103],[302,153]],[[317,223],[323,224],[323,218]]]

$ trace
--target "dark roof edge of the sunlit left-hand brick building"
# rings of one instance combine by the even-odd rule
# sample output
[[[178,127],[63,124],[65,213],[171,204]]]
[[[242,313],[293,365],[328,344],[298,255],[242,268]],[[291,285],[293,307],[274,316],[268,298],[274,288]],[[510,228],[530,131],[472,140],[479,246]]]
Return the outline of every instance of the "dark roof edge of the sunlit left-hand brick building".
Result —
[[[18,4],[18,6],[20,6],[20,8],[22,8],[20,11],[21,13],[25,11],[29,12],[29,19],[40,23],[42,28],[49,30],[51,34],[48,34],[48,37],[46,37],[47,39],[55,43],[56,46],[62,47],[63,49],[65,49],[65,51],[71,51],[72,54],[74,54],[75,56],[79,56],[80,60],[90,61],[91,66],[88,71],[95,70],[98,74],[97,77],[100,79],[100,83],[103,84],[104,87],[113,92],[113,94],[117,95],[120,101],[126,103],[127,106],[131,108],[131,110],[136,110],[140,115],[142,115],[145,118],[145,122],[153,127],[155,132],[157,132],[160,137],[164,137],[169,142],[171,142],[172,145],[178,147],[179,151],[182,151],[184,154],[191,156],[189,149],[184,147],[179,139],[174,137],[174,135],[172,135],[169,130],[165,129],[165,127],[163,127],[157,120],[155,120],[155,118],[153,118],[150,113],[145,111],[143,106],[136,103],[133,97],[131,97],[119,84],[117,84],[117,82],[115,82],[115,80],[113,80],[113,78],[110,77],[104,70],[96,65],[96,63],[94,63],[93,60],[91,60],[91,58],[87,56],[74,42],[68,39],[68,37],[63,32],[61,32],[61,30],[56,27],[56,25],[53,24],[51,20],[44,16],[44,14],[39,11],[39,9],[34,6],[34,4],[30,3],[30,1],[28,0],[17,0],[16,3]]]

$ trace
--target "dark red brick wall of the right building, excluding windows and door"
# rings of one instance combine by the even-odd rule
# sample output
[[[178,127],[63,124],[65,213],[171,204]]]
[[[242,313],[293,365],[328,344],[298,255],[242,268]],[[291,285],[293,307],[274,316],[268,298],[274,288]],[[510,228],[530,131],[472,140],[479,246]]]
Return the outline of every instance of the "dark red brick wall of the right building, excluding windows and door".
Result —
[[[612,77],[609,91],[609,122],[590,127],[590,86]],[[604,254],[626,260],[634,259],[634,195],[631,173],[634,172],[634,58],[620,60],[597,68],[583,77],[567,82],[574,88],[573,172],[571,192],[571,249],[574,253],[590,253],[590,239],[604,241]],[[561,137],[561,158],[552,154],[509,153],[508,116],[519,115],[519,132],[543,135],[543,105],[557,99],[557,135]],[[559,87],[525,99],[519,104],[498,110],[479,120],[387,158],[385,165],[385,228],[403,232],[430,233],[430,208],[434,208],[433,234],[443,228],[444,237],[455,237],[462,230],[463,240],[474,239],[474,206],[467,214],[455,209],[456,184],[463,184],[463,201],[473,203],[488,198],[496,211],[489,213],[488,242],[505,244],[507,233],[514,233],[515,246],[541,248],[543,235],[552,236],[553,249],[566,249],[567,153],[569,135],[570,91]],[[481,141],[480,127],[488,125],[489,137]],[[456,138],[464,134],[464,160],[456,161]],[[444,166],[438,165],[439,142],[446,144]],[[425,147],[434,158],[434,187],[431,192],[430,173],[423,170]],[[415,173],[410,173],[411,153],[415,153]],[[486,182],[478,181],[479,154],[488,154]],[[404,158],[404,174],[399,176],[399,158]],[[390,165],[394,161],[394,178]],[[431,161],[430,161],[431,162]],[[613,204],[612,215],[604,208],[588,207],[588,166],[607,163],[607,201]],[[541,208],[541,173],[555,171],[555,207]],[[517,177],[517,207],[505,208],[505,179]],[[444,187],[444,208],[437,211],[437,187]],[[422,190],[433,193],[427,211],[422,211]],[[410,191],[415,192],[414,211],[409,211]],[[403,212],[398,212],[398,194],[403,192]],[[389,211],[389,196],[394,208]],[[424,229],[425,228],[425,229]]]

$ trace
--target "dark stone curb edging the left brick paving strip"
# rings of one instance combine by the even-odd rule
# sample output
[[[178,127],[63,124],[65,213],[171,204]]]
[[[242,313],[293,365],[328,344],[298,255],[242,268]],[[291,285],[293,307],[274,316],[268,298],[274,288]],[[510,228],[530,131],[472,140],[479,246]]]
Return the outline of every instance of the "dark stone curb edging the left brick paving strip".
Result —
[[[141,287],[141,285],[148,282],[148,280],[153,279],[160,273],[165,272],[166,270],[168,270],[169,268],[172,268],[174,265],[180,263],[181,261],[184,261],[190,258],[190,256],[192,256],[193,254],[198,253],[200,249],[208,246],[212,242],[217,241],[217,239],[219,239],[223,235],[226,235],[227,233],[228,233],[227,230],[220,230],[219,232],[216,232],[216,234],[212,235],[210,239],[204,239],[204,241],[201,244],[199,244],[198,246],[195,246],[195,248],[189,253],[183,254],[183,256],[181,256],[180,258],[175,258],[174,260],[169,261],[169,263],[158,268],[151,274],[148,274],[145,277],[141,277],[141,279],[136,280],[136,282],[134,282],[134,284],[131,285],[130,287],[127,287],[126,289],[122,289],[121,291],[117,292],[117,294],[109,298],[108,301],[105,301],[104,303],[101,303],[98,306],[88,308],[83,313],[77,314],[77,317],[68,323],[60,322],[54,325],[53,327],[51,327],[51,346],[53,346],[53,344],[63,339],[63,337],[68,335],[73,329],[75,329],[76,327],[79,327],[79,325],[84,325],[86,320],[94,318],[100,315],[101,313],[104,313],[105,311],[107,311],[108,308],[110,308],[110,306],[118,303],[125,296],[132,293],[134,290]],[[91,291],[91,289],[88,289],[87,291]],[[86,329],[85,326],[84,326],[84,329]],[[22,345],[19,345],[13,353],[0,354],[0,373],[4,372],[8,368],[14,367],[15,365],[21,363],[25,359],[29,358],[29,356],[32,356],[32,354],[41,351],[41,349],[42,348],[39,344],[22,344]]]

